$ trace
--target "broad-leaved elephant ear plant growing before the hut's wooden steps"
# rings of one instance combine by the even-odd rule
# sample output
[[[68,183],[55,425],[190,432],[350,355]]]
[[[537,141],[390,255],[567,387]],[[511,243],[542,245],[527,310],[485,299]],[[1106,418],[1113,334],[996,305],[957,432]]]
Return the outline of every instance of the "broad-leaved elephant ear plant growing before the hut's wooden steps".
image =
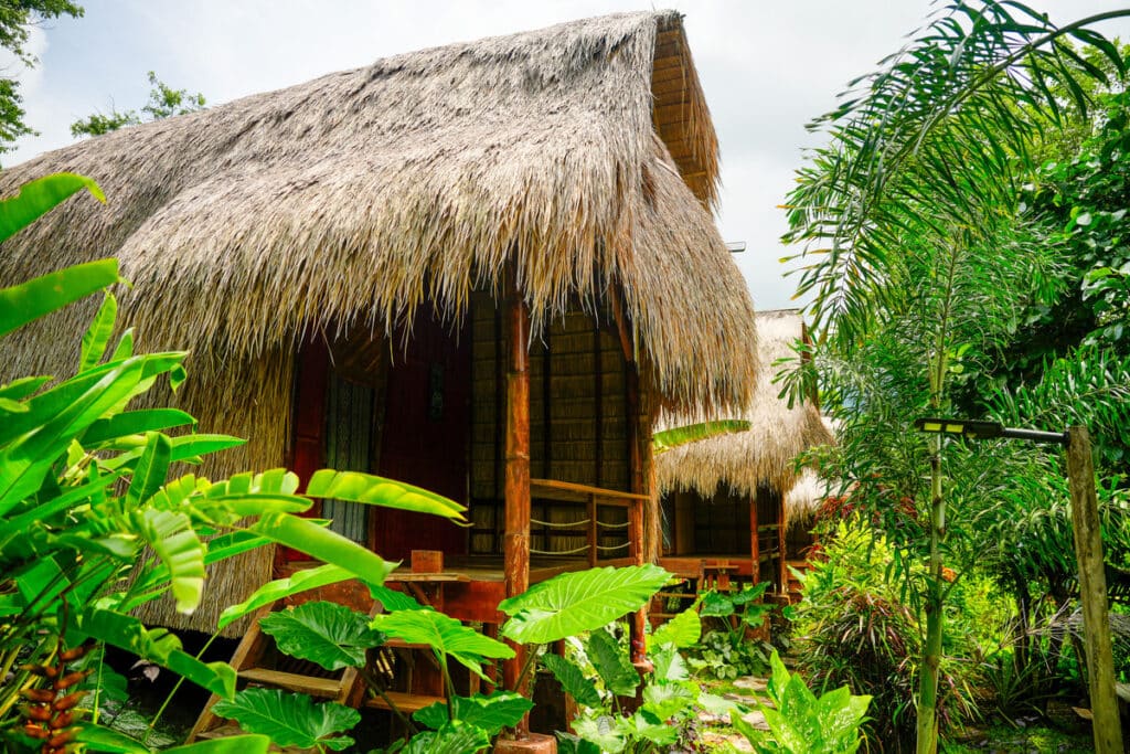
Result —
[[[245,603],[229,608],[223,619],[237,619],[276,599],[336,579],[341,574],[339,570],[331,570],[333,567],[323,566],[304,572],[301,578],[295,575],[264,584]],[[601,677],[609,694],[632,695],[640,683],[640,675],[603,626],[642,607],[668,578],[666,571],[650,565],[560,574],[499,606],[512,616],[503,626],[503,635],[523,643],[541,644],[592,631],[592,656],[598,658],[598,669],[607,674]],[[484,666],[513,658],[514,651],[510,647],[431,607],[420,606],[402,593],[384,587],[372,589],[384,608],[373,618],[340,605],[306,603],[270,614],[262,618],[260,626],[275,638],[276,647],[284,653],[310,660],[327,670],[356,668],[365,679],[368,693],[383,697],[384,704],[405,725],[406,738],[390,747],[390,752],[477,752],[488,746],[490,739],[504,729],[518,725],[529,712],[531,702],[521,694],[496,691],[463,696],[457,693],[452,681],[451,662],[489,679]],[[672,631],[669,631],[672,638],[685,635],[673,634]],[[368,651],[381,647],[388,639],[426,647],[432,651],[444,677],[444,702],[426,707],[410,719],[397,708],[386,694],[383,681],[367,662]],[[538,652],[528,657],[523,677]],[[559,674],[557,677],[567,690],[579,694],[582,703],[603,702],[605,697],[592,681],[585,678],[575,665],[551,655],[545,656],[544,661],[555,675]],[[521,687],[521,683],[519,685]],[[241,691],[232,701],[217,703],[214,711],[237,720],[245,730],[270,736],[276,743],[285,740],[319,749],[341,749],[351,745],[353,739],[344,734],[359,719],[341,704],[315,704],[304,694],[261,688]]]

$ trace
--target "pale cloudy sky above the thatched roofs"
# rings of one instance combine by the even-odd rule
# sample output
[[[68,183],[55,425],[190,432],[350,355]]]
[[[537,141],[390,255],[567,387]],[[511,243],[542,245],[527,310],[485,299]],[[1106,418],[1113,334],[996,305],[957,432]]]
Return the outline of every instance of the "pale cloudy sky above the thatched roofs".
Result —
[[[40,66],[20,72],[27,123],[40,131],[3,156],[16,165],[73,141],[94,112],[140,110],[147,71],[209,105],[359,68],[386,55],[626,10],[675,8],[721,146],[719,227],[758,310],[797,305],[779,260],[780,205],[819,145],[805,129],[846,83],[875,70],[931,12],[929,0],[79,0],[86,15],[34,29]],[[1029,0],[1058,24],[1125,7],[1114,0]],[[1130,23],[1099,27],[1130,40]],[[10,75],[18,67],[0,67]],[[110,197],[113,200],[113,197]]]

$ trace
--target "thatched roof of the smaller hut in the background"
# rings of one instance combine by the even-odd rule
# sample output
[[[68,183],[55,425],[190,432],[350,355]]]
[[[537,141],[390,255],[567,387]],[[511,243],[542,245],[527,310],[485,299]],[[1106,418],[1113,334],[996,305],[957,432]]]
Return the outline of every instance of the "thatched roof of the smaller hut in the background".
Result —
[[[781,385],[773,383],[781,369],[774,362],[794,356],[790,345],[802,337],[799,312],[758,312],[757,330],[760,374],[754,399],[744,411],[706,417],[744,418],[750,422],[750,428],[699,440],[658,456],[655,471],[661,491],[687,489],[712,497],[720,488],[754,495],[758,486],[766,486],[788,495],[798,478],[793,459],[814,445],[834,441],[812,405],[796,404],[789,408],[786,401],[777,398]],[[702,419],[702,416],[668,413],[661,423],[678,426]]]

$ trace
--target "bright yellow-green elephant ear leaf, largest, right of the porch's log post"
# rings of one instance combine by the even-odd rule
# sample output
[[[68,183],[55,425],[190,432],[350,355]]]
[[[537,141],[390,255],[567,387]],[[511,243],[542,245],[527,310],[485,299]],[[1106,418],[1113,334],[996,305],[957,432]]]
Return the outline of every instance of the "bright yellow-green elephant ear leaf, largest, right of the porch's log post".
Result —
[[[502,633],[521,643],[548,644],[594,631],[643,607],[670,575],[651,564],[563,573],[504,599],[498,609],[511,618]]]

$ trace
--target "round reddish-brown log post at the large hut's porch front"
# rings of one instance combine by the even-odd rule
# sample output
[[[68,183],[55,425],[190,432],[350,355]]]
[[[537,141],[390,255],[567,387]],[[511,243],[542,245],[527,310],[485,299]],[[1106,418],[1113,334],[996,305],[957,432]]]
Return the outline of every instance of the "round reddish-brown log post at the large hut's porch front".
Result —
[[[506,597],[530,587],[530,310],[518,289],[512,268],[506,276],[506,324],[510,369],[506,372],[506,529],[503,539]],[[518,688],[525,660],[524,648],[511,644],[514,658],[503,664],[503,682]],[[515,726],[518,738],[529,735],[529,718]]]

